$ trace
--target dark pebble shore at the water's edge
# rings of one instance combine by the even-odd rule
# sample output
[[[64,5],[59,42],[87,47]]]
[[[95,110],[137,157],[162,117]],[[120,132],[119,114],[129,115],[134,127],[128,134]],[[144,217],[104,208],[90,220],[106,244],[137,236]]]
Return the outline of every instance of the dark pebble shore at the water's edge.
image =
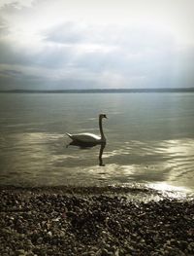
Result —
[[[0,255],[194,255],[194,201],[0,189]]]

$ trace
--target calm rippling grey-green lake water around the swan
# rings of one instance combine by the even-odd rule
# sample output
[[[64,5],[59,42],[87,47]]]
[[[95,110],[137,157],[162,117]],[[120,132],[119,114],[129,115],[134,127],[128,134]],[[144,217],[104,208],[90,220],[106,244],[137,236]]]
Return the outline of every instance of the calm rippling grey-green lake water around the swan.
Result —
[[[194,187],[194,93],[1,93],[0,185]],[[107,145],[66,145],[65,132]]]

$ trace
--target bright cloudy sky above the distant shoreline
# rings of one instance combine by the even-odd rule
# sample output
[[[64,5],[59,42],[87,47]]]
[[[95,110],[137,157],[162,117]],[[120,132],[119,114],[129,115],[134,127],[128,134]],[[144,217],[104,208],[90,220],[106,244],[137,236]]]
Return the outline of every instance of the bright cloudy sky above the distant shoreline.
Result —
[[[194,87],[193,0],[1,0],[0,90]]]

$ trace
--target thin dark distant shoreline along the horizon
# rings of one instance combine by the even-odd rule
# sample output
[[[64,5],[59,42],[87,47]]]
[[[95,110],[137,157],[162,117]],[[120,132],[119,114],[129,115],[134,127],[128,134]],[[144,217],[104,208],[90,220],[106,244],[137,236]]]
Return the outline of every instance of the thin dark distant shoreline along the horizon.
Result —
[[[90,89],[90,90],[0,90],[0,93],[138,93],[138,92],[194,92],[194,88]]]

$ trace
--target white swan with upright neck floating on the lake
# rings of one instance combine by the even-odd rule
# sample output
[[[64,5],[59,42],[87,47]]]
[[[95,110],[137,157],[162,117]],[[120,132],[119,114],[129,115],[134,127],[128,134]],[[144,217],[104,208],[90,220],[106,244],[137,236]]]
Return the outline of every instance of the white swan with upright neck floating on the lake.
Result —
[[[84,132],[84,133],[78,133],[78,134],[70,134],[66,132],[66,134],[74,141],[74,142],[80,142],[80,143],[105,143],[106,142],[106,137],[103,132],[103,125],[102,125],[102,120],[103,118],[107,118],[105,114],[100,114],[99,115],[99,129],[100,129],[100,136],[89,133],[89,132]]]

